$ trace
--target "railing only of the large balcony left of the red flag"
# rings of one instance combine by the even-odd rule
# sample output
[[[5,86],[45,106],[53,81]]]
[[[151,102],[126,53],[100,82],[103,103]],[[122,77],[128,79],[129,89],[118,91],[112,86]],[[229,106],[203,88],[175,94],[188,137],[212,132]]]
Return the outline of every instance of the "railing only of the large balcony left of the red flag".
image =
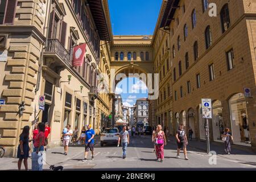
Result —
[[[71,64],[71,56],[58,39],[48,39],[46,52],[56,53],[65,63]]]

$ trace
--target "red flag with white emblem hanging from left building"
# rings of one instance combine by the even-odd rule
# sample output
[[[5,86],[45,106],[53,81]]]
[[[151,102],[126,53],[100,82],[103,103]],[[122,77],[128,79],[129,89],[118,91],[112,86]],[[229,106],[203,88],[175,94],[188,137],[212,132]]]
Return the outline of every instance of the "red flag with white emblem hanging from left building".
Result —
[[[73,50],[73,67],[81,67],[84,62],[84,55],[86,51],[86,43],[80,44],[79,46],[74,47]]]

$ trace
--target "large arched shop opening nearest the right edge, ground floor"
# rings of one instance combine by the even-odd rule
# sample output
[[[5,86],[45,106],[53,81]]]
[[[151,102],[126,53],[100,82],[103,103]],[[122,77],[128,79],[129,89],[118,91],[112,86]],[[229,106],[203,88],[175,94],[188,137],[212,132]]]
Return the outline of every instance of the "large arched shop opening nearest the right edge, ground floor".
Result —
[[[250,146],[246,98],[242,93],[230,97],[229,113],[234,143]]]

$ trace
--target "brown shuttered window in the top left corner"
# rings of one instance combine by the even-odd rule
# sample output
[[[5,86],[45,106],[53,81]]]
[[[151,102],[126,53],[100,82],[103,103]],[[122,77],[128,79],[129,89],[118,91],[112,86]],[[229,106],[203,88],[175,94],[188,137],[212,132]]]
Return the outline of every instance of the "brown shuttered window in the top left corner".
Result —
[[[3,1],[2,1],[3,2]],[[5,7],[4,7],[5,6]],[[15,10],[17,6],[17,0],[6,0],[6,3],[3,2],[0,12],[0,23],[1,24],[13,24],[15,18]],[[1,16],[3,15],[2,10],[4,10],[4,18],[1,22]],[[2,15],[1,15],[2,14]]]

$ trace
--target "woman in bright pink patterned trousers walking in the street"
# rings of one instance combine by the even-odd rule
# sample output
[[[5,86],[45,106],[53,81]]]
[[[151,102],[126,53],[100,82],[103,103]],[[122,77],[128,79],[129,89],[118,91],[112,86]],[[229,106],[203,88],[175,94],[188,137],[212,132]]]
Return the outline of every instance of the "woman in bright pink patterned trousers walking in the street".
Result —
[[[164,135],[164,131],[162,130],[161,125],[158,125],[156,127],[156,131],[155,131],[155,134],[154,134],[154,141],[155,141],[156,159],[160,162],[163,162],[164,146],[166,146],[166,137]]]

